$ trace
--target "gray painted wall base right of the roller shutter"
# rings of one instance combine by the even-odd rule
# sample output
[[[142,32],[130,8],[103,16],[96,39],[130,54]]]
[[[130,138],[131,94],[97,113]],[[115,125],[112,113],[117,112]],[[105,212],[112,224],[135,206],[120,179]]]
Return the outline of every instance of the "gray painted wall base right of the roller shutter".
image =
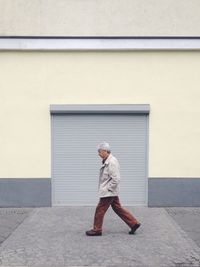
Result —
[[[149,207],[200,207],[200,178],[149,178]]]

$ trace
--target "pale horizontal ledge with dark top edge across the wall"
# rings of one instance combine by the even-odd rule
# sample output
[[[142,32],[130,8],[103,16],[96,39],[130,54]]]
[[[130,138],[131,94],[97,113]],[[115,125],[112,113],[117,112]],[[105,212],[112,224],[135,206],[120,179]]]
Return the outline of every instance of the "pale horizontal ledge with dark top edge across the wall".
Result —
[[[0,37],[0,50],[200,50],[199,37]]]

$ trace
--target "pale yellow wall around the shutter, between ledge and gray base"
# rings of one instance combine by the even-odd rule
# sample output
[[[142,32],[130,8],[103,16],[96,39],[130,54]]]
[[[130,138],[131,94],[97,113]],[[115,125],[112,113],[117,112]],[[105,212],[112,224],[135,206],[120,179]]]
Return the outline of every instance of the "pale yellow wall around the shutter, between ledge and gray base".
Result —
[[[1,52],[1,178],[50,177],[50,104],[150,104],[149,176],[200,177],[200,52]]]

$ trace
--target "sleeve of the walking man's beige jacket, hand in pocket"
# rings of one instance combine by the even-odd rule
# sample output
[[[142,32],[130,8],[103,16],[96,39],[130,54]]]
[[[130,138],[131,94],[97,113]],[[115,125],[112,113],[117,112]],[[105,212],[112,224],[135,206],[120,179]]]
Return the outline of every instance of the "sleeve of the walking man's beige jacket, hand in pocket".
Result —
[[[110,162],[108,175],[110,178],[109,183],[108,183],[108,191],[113,192],[115,191],[120,181],[119,164],[117,162]]]

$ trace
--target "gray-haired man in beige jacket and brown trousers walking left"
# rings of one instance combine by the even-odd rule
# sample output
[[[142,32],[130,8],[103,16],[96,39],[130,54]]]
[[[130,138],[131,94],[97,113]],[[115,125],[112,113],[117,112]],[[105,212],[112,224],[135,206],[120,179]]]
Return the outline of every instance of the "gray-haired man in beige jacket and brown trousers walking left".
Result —
[[[93,229],[86,231],[88,236],[102,235],[103,218],[111,206],[114,212],[131,228],[129,234],[134,234],[140,223],[133,215],[122,208],[119,201],[120,167],[118,160],[111,154],[108,143],[103,142],[98,146],[98,154],[102,158],[99,175],[99,203],[94,215]]]

